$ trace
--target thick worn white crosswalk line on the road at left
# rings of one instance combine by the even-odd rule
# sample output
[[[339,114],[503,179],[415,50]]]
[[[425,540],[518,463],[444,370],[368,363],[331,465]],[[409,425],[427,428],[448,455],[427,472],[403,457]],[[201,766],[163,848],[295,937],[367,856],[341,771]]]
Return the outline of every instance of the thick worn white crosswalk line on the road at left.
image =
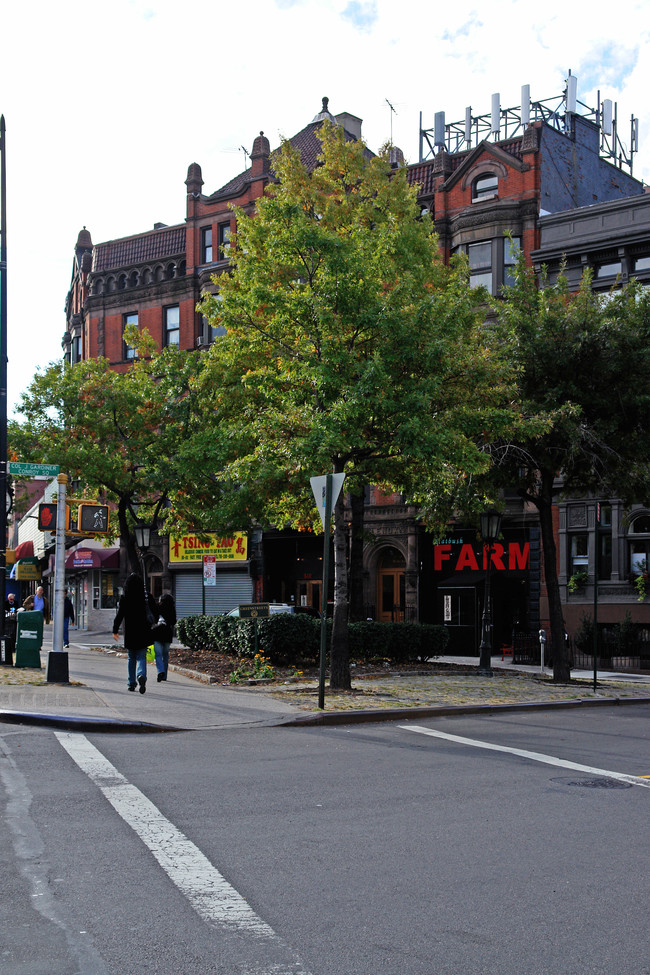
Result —
[[[79,768],[101,789],[116,812],[153,853],[200,917],[209,924],[272,941],[276,950],[278,947],[291,950],[198,847],[131,785],[84,735],[59,731],[55,734]],[[269,973],[276,970],[279,971],[269,965]],[[283,971],[290,971],[291,975],[310,975],[297,959]]]

